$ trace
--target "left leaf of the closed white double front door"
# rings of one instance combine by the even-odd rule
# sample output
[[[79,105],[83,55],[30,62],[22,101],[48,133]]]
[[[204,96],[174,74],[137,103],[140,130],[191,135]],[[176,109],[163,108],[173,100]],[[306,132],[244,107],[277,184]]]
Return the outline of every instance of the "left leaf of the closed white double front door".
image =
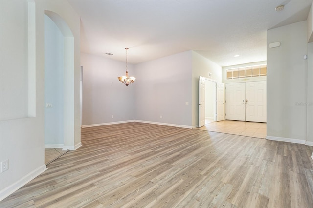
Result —
[[[245,83],[226,83],[226,119],[227,120],[246,120],[246,84]]]

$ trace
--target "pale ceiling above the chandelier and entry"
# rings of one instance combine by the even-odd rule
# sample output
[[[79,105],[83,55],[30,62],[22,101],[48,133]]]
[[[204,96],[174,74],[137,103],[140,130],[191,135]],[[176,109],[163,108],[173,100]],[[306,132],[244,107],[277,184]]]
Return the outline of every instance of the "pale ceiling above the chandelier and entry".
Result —
[[[136,64],[194,50],[220,66],[229,66],[265,61],[266,31],[306,20],[312,0],[69,3],[81,16],[82,52],[125,62],[128,47],[128,62]],[[285,8],[277,12],[279,5]]]

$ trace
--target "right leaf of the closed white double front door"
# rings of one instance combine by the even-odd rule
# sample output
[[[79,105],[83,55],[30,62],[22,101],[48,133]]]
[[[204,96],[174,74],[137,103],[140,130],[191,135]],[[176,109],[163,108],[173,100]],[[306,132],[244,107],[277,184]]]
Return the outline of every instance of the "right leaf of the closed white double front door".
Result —
[[[266,81],[246,83],[246,121],[266,122]]]

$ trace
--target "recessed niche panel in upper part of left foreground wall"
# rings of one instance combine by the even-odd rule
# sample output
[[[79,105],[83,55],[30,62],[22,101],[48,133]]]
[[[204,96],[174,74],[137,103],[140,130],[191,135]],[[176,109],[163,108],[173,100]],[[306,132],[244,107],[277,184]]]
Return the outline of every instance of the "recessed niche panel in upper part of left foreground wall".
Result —
[[[1,2],[1,121],[28,117],[27,10],[27,1]]]

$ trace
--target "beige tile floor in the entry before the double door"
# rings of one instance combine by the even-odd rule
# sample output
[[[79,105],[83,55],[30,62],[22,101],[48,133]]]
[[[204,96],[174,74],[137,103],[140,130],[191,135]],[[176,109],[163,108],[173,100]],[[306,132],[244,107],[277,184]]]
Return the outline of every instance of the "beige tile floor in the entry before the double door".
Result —
[[[207,123],[199,129],[263,139],[266,137],[266,123],[259,122],[224,120]]]

